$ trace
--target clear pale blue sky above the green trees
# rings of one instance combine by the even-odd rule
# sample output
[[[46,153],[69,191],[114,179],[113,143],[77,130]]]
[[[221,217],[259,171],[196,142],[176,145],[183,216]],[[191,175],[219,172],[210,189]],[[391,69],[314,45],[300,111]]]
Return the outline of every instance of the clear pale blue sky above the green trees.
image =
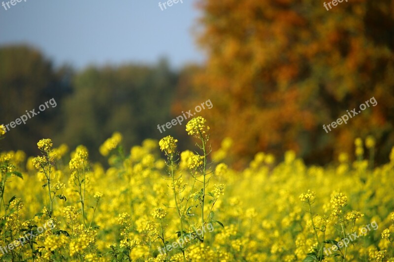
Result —
[[[159,6],[164,0],[22,0],[0,5],[0,47],[28,44],[55,66],[156,63],[180,68],[202,62],[192,29],[197,0]],[[1,63],[1,61],[0,61]]]

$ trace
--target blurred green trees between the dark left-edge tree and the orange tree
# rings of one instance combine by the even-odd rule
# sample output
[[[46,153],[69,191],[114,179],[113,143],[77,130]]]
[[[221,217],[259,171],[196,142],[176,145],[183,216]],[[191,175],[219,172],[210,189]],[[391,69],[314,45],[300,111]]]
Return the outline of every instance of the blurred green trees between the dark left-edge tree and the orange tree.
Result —
[[[161,138],[157,124],[169,119],[177,75],[162,59],[156,66],[90,67],[73,79],[65,100],[65,129],[59,138],[71,146],[98,148],[114,131],[126,148],[145,138]],[[95,155],[96,154],[96,155]]]

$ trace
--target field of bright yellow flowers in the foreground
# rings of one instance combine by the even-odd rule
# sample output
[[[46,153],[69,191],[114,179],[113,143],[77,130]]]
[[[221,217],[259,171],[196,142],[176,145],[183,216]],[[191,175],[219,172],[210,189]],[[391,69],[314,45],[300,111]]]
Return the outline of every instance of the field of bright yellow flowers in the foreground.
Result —
[[[374,169],[368,137],[353,163],[260,152],[234,171],[225,162],[236,141],[211,152],[202,117],[186,131],[195,148],[178,152],[168,136],[127,154],[114,133],[99,148],[108,169],[50,139],[38,156],[2,152],[1,261],[394,261],[394,149]]]

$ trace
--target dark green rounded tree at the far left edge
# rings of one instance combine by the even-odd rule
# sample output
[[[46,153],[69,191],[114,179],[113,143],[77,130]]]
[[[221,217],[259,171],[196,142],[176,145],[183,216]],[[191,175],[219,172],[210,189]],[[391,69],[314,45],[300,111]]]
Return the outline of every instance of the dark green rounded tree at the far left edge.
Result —
[[[61,129],[61,100],[70,91],[67,67],[55,70],[51,61],[28,46],[0,48],[0,124],[8,124],[51,98],[57,106],[49,106],[6,133],[1,150],[24,149],[36,154],[36,145],[43,137],[51,137]]]

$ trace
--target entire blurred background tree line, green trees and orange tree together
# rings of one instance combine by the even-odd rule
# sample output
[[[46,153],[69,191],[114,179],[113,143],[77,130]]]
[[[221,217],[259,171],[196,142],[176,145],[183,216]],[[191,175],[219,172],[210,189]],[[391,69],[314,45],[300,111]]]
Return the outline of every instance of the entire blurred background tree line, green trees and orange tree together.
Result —
[[[17,126],[2,149],[36,154],[40,138],[89,147],[112,132],[124,144],[186,132],[165,124],[210,99],[213,149],[222,139],[235,143],[230,159],[246,165],[258,151],[281,157],[294,149],[307,163],[327,164],[339,152],[354,151],[354,139],[376,138],[376,162],[387,161],[394,145],[394,2],[343,2],[327,11],[312,0],[200,0],[198,43],[203,66],[179,72],[165,60],[157,65],[89,67],[75,72],[26,46],[0,49],[1,122],[9,123],[54,97],[56,108]],[[328,125],[346,110],[374,97],[348,123]],[[189,143],[192,143],[189,141]],[[181,149],[182,149],[181,145]]]

